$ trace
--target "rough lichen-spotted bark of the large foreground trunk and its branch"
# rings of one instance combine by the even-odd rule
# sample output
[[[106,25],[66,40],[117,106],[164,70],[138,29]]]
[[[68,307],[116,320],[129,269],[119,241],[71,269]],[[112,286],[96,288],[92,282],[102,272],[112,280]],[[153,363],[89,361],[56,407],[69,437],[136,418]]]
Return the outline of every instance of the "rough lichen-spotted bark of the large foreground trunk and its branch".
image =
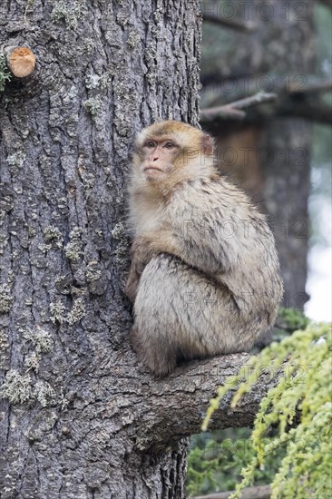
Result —
[[[198,121],[198,4],[0,5],[0,45],[37,59],[0,108],[2,499],[183,497],[183,437],[247,358],[155,381],[128,343],[128,152],[142,125]],[[265,389],[215,425],[249,425]]]

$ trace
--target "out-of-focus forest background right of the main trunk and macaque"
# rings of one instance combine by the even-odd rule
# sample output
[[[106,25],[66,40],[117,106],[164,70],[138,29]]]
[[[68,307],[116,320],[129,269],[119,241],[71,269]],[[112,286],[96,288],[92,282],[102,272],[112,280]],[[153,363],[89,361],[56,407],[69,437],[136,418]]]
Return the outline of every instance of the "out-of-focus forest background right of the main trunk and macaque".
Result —
[[[201,13],[200,124],[216,137],[220,172],[267,214],[285,283],[264,347],[306,328],[305,316],[331,321],[332,0],[204,1]],[[191,438],[190,496],[234,489],[250,433]],[[270,455],[255,485],[271,483],[285,452]]]

